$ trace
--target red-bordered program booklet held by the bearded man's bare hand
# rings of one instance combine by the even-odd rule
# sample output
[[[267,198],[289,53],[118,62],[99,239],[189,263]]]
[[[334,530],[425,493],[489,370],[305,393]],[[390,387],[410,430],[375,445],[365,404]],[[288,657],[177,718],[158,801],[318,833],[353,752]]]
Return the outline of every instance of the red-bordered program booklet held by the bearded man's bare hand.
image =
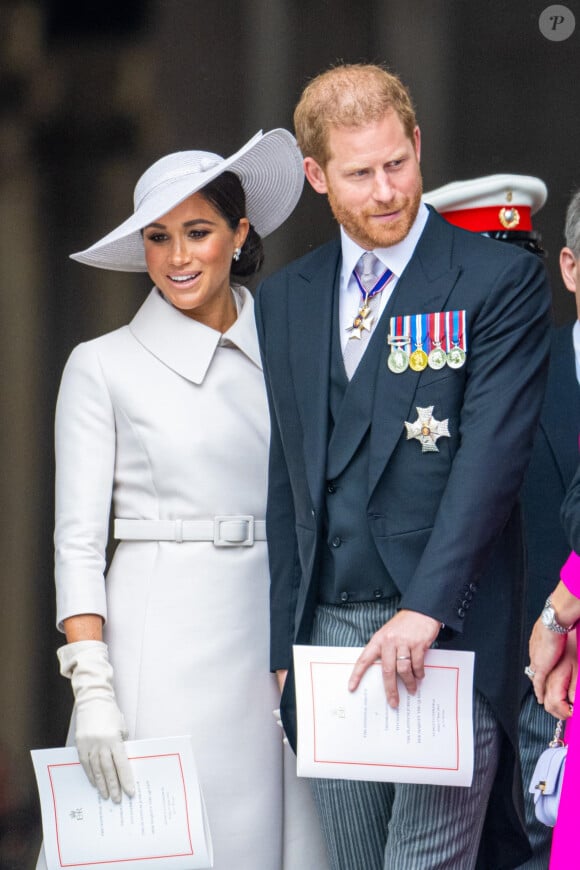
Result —
[[[474,653],[428,650],[411,695],[389,707],[380,662],[355,692],[362,649],[295,646],[299,776],[471,785]]]

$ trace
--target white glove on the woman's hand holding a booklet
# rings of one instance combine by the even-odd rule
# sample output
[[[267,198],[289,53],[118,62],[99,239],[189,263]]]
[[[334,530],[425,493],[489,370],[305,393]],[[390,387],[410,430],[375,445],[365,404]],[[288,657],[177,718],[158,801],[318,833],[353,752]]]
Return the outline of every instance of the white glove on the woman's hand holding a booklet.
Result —
[[[99,794],[121,801],[121,789],[135,794],[131,765],[123,745],[128,735],[113,689],[107,645],[99,640],[68,643],[57,650],[60,672],[75,696],[75,743],[79,761]]]

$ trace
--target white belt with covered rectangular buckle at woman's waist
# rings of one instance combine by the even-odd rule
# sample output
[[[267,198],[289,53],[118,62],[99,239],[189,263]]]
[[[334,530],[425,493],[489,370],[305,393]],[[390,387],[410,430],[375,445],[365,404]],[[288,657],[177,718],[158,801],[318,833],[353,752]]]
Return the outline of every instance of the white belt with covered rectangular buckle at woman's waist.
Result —
[[[211,541],[216,547],[252,547],[266,540],[266,521],[252,516],[214,517],[213,520],[115,520],[121,541]]]

